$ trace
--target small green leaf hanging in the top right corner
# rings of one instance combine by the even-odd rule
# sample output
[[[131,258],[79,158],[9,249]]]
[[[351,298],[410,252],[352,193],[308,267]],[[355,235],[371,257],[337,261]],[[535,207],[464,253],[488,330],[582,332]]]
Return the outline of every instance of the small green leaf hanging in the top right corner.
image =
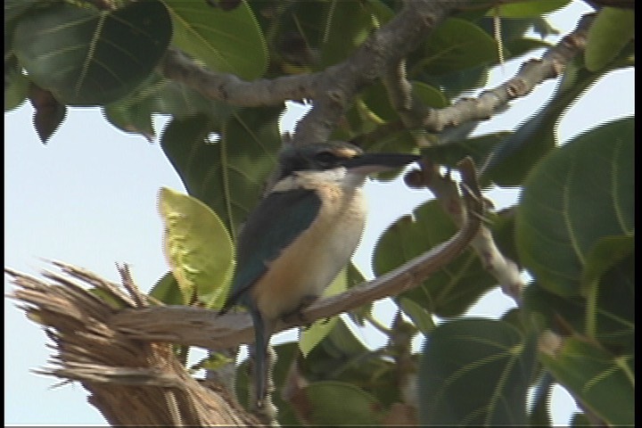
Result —
[[[601,70],[612,62],[635,37],[635,11],[605,7],[597,13],[590,29],[584,63],[590,71]]]

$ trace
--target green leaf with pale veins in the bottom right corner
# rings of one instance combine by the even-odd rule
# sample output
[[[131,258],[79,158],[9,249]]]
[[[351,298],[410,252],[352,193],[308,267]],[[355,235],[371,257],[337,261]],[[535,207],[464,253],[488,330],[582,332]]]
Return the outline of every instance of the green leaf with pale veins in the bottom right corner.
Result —
[[[569,337],[555,354],[539,359],[588,408],[611,426],[635,424],[633,355],[614,356],[595,344]]]

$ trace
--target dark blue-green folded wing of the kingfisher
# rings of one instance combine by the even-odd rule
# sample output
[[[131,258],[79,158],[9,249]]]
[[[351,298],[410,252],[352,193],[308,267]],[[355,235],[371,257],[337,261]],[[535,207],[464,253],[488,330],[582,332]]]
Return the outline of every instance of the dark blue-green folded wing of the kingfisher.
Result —
[[[321,199],[313,190],[270,193],[251,213],[236,248],[236,271],[225,309],[236,303],[250,306],[246,298],[255,281],[297,236],[317,218]]]

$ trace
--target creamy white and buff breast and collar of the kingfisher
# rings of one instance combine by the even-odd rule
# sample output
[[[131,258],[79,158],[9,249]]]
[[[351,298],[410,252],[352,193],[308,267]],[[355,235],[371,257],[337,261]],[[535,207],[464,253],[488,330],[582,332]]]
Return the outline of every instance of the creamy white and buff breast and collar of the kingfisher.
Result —
[[[318,177],[319,174],[334,173]],[[319,179],[323,178],[323,179]],[[286,181],[293,179],[295,181]],[[344,169],[300,173],[277,183],[273,191],[314,189],[321,198],[317,218],[276,258],[253,287],[255,301],[267,318],[299,308],[301,300],[320,295],[350,261],[366,222],[364,177],[350,177]]]

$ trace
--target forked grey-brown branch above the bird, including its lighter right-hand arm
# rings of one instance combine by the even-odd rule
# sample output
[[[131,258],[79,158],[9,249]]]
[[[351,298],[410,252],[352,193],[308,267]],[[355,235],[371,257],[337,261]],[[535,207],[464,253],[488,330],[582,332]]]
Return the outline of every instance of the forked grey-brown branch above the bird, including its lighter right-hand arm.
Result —
[[[345,62],[317,73],[258,79],[246,82],[231,74],[196,65],[184,53],[170,49],[159,68],[167,77],[198,90],[202,95],[239,106],[273,105],[284,100],[313,99],[314,106],[300,120],[292,144],[326,141],[363,86],[383,78],[392,105],[406,128],[441,132],[462,123],[490,119],[510,101],[528,95],[549,78],[558,77],[586,45],[593,15],[585,15],[577,28],[539,60],[524,62],[514,78],[443,109],[428,109],[412,94],[405,76],[404,58],[440,21],[470,0],[414,0],[358,47]]]

